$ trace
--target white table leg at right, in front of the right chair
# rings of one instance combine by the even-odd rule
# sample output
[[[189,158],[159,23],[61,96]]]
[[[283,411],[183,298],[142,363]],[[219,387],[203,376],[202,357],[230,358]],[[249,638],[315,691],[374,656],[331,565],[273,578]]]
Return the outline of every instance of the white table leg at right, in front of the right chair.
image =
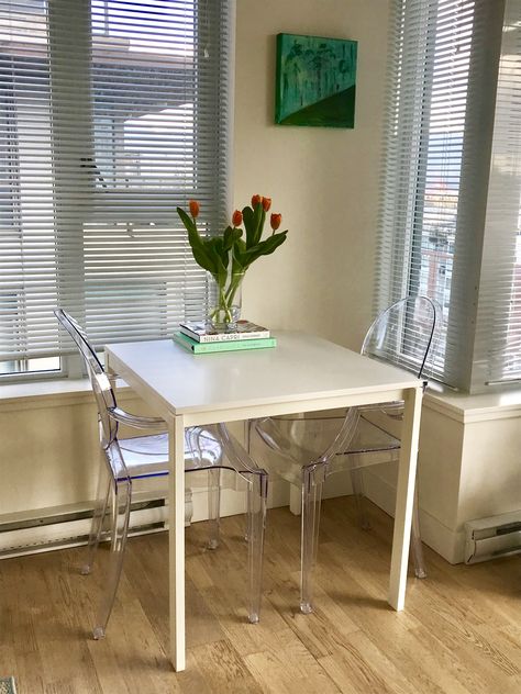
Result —
[[[421,388],[410,389],[404,401],[388,598],[397,611],[406,602],[422,394]]]

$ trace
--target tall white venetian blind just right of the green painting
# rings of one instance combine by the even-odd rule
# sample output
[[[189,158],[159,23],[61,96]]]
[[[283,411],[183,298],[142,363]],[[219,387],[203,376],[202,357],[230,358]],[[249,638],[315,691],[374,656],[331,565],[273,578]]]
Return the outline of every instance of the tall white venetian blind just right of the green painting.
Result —
[[[501,5],[393,2],[377,307],[408,293],[436,300],[434,374],[457,387],[473,361]]]

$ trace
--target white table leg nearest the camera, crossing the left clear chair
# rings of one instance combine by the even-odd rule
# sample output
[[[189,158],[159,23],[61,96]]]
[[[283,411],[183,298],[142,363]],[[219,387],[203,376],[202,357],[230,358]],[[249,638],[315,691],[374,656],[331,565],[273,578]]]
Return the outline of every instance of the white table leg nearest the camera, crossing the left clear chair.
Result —
[[[185,426],[182,416],[168,421],[170,659],[186,668],[185,643]]]

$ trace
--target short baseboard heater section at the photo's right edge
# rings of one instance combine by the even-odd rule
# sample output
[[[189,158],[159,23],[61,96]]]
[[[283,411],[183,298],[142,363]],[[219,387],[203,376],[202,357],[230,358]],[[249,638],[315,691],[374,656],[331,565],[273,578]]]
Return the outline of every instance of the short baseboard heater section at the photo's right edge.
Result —
[[[521,511],[465,523],[465,563],[521,552]]]

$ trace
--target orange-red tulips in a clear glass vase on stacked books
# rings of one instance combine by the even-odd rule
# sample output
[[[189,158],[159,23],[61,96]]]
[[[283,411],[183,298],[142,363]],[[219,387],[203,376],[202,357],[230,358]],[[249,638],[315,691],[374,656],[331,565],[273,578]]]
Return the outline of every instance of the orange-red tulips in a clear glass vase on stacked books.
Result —
[[[278,232],[281,214],[271,213],[271,234],[263,239],[270,198],[253,195],[252,205],[235,210],[232,224],[221,234],[201,235],[197,228],[200,205],[189,201],[188,214],[182,208],[177,213],[188,232],[188,240],[196,262],[208,270],[217,284],[217,303],[211,307],[209,322],[218,332],[235,332],[241,314],[241,288],[248,267],[260,256],[267,256],[286,240],[288,231]],[[244,225],[244,230],[242,228]]]

